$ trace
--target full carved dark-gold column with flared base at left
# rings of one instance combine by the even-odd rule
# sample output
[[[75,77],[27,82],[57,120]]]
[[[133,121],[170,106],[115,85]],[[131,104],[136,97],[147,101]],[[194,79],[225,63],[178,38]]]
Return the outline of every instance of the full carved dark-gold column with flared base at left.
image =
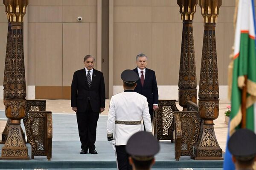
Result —
[[[28,0],[3,0],[9,21],[4,72],[4,104],[10,119],[9,134],[0,159],[28,160],[28,148],[21,134],[20,119],[25,115],[26,80],[23,53],[23,16]]]

